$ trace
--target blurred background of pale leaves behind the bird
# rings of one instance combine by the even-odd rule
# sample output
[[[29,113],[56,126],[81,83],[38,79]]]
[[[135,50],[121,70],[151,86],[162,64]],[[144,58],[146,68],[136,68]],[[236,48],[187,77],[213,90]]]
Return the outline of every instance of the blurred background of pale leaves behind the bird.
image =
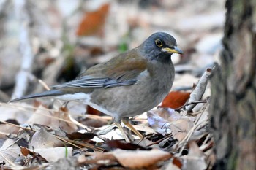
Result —
[[[175,90],[189,90],[218,62],[224,0],[1,0],[0,101],[74,79],[94,64],[140,45],[156,31],[173,35]]]

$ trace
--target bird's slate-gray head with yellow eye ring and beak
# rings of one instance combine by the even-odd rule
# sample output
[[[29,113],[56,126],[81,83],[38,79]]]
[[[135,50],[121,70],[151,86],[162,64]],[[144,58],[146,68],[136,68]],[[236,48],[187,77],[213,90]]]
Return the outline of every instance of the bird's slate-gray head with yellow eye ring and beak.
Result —
[[[173,53],[183,53],[182,50],[177,47],[176,39],[164,32],[157,32],[149,36],[148,39],[139,46],[139,49],[146,58],[163,62],[170,61],[170,55]]]

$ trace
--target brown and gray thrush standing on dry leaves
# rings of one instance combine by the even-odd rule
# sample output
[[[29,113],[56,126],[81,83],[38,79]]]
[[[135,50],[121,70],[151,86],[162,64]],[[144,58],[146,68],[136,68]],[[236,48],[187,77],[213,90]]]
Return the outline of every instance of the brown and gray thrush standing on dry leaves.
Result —
[[[138,47],[99,63],[82,72],[75,80],[55,85],[51,90],[15,98],[10,102],[31,98],[55,97],[84,103],[113,117],[126,142],[130,142],[121,121],[147,112],[167,96],[174,81],[173,53],[183,54],[176,39],[165,32],[156,32]]]

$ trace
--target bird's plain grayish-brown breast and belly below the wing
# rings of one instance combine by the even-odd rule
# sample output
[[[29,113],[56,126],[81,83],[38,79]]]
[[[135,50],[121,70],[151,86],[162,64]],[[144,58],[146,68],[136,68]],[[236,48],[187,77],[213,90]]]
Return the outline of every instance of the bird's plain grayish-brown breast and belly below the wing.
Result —
[[[134,85],[94,90],[91,103],[108,110],[105,113],[117,120],[141,114],[156,107],[167,96],[173,85],[173,75],[173,65],[153,64],[139,75]]]

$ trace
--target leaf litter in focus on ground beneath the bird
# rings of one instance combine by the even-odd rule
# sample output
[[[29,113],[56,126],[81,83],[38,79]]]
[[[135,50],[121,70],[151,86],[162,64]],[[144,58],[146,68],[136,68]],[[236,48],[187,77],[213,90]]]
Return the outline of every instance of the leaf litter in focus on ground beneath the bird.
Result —
[[[198,81],[197,86],[205,86],[200,88],[204,92],[206,83]],[[203,92],[197,98],[202,99]],[[170,98],[167,100],[169,102]],[[188,99],[187,103],[189,102],[192,101]],[[123,138],[116,133],[118,130],[114,126],[106,134],[97,134],[100,128],[93,127],[86,127],[85,131],[81,131],[83,126],[67,116],[68,107],[50,109],[38,103],[35,107],[20,104],[1,104],[1,107],[17,107],[24,112],[33,113],[23,125],[2,121],[3,125],[20,128],[17,132],[12,131],[12,128],[4,132],[9,135],[5,136],[7,140],[1,147],[0,161],[7,167],[54,167],[58,160],[69,158],[75,160],[75,166],[89,169],[101,166],[121,166],[128,169],[206,169],[212,163],[207,102],[203,103],[198,112],[189,112],[186,107],[178,110],[158,107],[147,112],[146,120],[135,117],[132,121],[138,123],[138,127],[144,127],[138,130],[145,138],[138,139],[133,135],[135,140],[130,144],[121,142]],[[100,117],[97,116],[98,119]],[[86,118],[90,119],[90,116]],[[91,118],[94,119],[94,116]],[[116,135],[119,136],[118,140],[115,140]]]

